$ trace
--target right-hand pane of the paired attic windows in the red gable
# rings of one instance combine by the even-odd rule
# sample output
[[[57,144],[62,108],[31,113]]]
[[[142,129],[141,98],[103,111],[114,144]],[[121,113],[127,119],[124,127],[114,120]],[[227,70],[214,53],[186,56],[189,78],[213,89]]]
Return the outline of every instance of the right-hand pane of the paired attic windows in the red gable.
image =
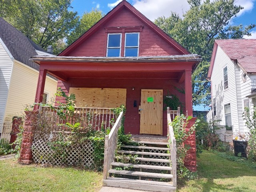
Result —
[[[139,33],[126,33],[125,34],[125,57],[137,57],[139,54]]]

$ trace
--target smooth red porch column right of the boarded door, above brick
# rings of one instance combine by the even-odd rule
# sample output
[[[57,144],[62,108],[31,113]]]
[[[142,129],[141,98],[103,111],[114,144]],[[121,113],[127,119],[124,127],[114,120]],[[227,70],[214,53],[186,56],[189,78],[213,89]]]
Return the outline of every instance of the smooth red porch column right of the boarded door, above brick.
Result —
[[[185,71],[185,108],[186,108],[186,116],[193,116],[193,108],[192,108],[192,71]]]

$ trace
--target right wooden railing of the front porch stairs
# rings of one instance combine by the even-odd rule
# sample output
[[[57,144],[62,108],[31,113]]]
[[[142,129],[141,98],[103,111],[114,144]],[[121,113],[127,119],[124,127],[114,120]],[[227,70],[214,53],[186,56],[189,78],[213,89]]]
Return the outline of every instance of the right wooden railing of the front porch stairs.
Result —
[[[172,183],[173,186],[176,187],[177,185],[177,148],[176,148],[176,138],[174,136],[174,131],[172,127],[172,119],[171,114],[174,118],[174,113],[176,115],[180,115],[180,108],[178,107],[178,110],[174,112],[173,110],[170,110],[169,107],[167,107],[167,124],[168,124],[168,142],[170,144],[170,153],[171,153],[171,161],[172,161]]]

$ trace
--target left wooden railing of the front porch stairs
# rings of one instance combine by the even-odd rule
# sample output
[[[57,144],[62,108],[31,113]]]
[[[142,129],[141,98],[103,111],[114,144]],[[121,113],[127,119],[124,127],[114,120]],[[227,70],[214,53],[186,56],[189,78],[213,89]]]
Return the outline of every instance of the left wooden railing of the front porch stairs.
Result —
[[[105,136],[105,150],[104,150],[104,168],[103,168],[103,179],[107,179],[108,170],[110,169],[110,164],[114,161],[116,145],[117,145],[117,134],[118,129],[122,123],[122,117],[124,112],[121,112],[111,129],[110,133]]]

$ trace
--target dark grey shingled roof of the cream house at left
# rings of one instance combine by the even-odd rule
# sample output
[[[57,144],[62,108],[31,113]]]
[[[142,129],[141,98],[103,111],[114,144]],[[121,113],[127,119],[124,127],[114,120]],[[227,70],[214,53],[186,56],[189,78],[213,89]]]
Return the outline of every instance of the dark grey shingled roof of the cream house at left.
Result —
[[[29,59],[32,56],[38,55],[36,50],[42,52],[46,51],[1,17],[0,38],[15,60],[39,70],[39,65],[30,61]]]

